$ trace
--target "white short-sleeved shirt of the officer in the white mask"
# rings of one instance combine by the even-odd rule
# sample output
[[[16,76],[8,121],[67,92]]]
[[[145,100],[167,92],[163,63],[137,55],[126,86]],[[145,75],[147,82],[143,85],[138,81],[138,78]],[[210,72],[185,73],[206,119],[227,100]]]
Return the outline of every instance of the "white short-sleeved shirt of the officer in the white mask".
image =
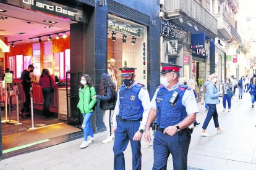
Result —
[[[180,83],[178,82],[171,88],[171,90],[168,89],[168,91],[174,91],[175,89],[177,89],[177,87],[179,87],[179,84]],[[156,89],[154,97],[150,103],[151,108],[153,108],[154,110],[156,110],[156,94],[158,91],[159,91],[159,88]],[[170,99],[171,99],[171,96],[170,96]],[[195,94],[192,89],[186,90],[184,92],[181,103],[182,103],[182,105],[184,105],[184,107],[186,107],[187,115],[199,112],[199,110],[197,108],[197,102],[195,100]]]

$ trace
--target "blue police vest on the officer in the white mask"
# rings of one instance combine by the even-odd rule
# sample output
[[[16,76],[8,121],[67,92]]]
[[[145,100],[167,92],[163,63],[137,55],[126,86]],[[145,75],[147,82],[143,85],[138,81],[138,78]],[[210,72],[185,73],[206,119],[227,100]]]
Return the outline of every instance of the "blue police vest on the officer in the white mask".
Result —
[[[159,87],[156,94],[156,123],[161,128],[174,126],[187,117],[186,107],[182,105],[182,97],[187,90],[187,86],[180,84],[177,89],[179,93],[176,103],[171,105],[169,100],[173,96],[174,91],[168,91],[164,86]]]

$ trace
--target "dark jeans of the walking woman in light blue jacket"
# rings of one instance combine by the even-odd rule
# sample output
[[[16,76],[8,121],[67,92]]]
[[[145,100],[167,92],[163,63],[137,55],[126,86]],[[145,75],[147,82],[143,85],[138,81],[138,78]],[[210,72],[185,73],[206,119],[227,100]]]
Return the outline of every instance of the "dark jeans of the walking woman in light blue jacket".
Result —
[[[216,105],[208,103],[208,107],[209,107],[209,109],[207,112],[207,117],[205,118],[205,122],[203,123],[203,129],[207,129],[207,126],[210,123],[211,118],[213,118],[215,127],[219,127],[218,113],[217,113]]]

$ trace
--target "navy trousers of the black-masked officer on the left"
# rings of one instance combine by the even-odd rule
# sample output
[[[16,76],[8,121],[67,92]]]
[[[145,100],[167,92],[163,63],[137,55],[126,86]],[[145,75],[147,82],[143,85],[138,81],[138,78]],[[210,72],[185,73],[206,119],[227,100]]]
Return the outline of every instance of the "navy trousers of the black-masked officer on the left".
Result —
[[[142,167],[142,153],[140,141],[134,141],[135,132],[139,131],[140,121],[118,121],[117,129],[114,139],[114,169],[125,169],[124,151],[130,140],[132,147],[132,169],[141,169]]]

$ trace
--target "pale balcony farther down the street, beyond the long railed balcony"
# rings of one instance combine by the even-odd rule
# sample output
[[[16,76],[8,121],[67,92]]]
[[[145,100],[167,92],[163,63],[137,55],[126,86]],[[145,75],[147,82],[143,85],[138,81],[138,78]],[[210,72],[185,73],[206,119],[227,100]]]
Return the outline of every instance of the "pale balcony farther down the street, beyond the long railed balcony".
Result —
[[[213,15],[218,20],[218,30],[225,39],[231,39],[231,26],[228,23],[226,17],[223,14]]]

